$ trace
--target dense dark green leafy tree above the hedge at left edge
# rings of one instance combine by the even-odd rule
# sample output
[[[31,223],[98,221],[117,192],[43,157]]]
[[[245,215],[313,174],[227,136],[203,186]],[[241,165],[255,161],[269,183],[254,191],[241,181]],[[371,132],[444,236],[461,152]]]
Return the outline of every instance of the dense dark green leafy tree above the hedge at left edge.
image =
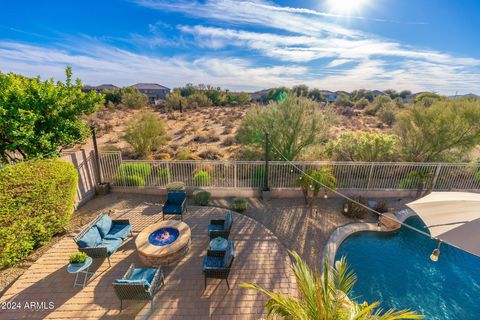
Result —
[[[0,72],[1,160],[53,157],[84,142],[89,129],[80,117],[95,112],[103,96],[82,88],[79,79],[72,82],[70,67],[65,83]]]

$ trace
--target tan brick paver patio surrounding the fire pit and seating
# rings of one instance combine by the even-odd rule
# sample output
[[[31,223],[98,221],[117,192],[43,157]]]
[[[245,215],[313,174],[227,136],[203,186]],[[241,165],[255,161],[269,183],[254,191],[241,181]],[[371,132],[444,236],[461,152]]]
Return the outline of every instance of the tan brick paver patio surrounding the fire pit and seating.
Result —
[[[121,199],[121,195],[111,198],[111,204],[116,203],[115,199]],[[93,207],[95,201],[92,201]],[[92,208],[88,205],[83,212]],[[95,209],[107,207],[108,204],[102,203]],[[134,235],[162,219],[158,203],[127,201],[117,207],[114,217],[130,219]],[[192,230],[191,250],[178,264],[164,268],[165,286],[156,295],[153,313],[150,313],[150,304],[142,301],[127,301],[120,312],[119,300],[112,288],[113,280],[120,278],[131,263],[141,265],[133,238],[128,238],[112,255],[111,267],[107,261],[95,261],[95,275],[85,288],[81,288],[72,286],[74,275],[66,271],[68,254],[77,251],[75,243],[68,237],[48,250],[0,298],[2,302],[21,303],[20,309],[0,310],[0,319],[261,318],[265,296],[241,288],[239,284],[252,282],[295,294],[296,284],[289,268],[288,253],[263,225],[247,216],[234,214],[230,235],[235,241],[235,261],[229,277],[231,289],[228,290],[225,281],[209,279],[204,291],[201,266],[209,243],[207,225],[210,219],[223,218],[225,213],[226,210],[219,208],[189,207],[184,221]],[[44,308],[26,309],[26,302],[43,302]],[[51,309],[49,302],[54,304]]]

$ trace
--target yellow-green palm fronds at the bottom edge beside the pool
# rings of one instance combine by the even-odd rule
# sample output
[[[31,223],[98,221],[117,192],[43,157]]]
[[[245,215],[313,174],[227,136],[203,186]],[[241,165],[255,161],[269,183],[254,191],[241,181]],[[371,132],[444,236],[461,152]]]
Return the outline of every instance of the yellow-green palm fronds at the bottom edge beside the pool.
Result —
[[[357,303],[348,298],[357,278],[350,271],[345,258],[329,269],[324,264],[323,274],[315,274],[296,252],[290,251],[295,262],[291,268],[295,274],[299,298],[280,292],[269,291],[261,286],[242,283],[240,286],[254,289],[269,297],[265,307],[267,318],[276,316],[292,320],[395,320],[423,319],[423,316],[410,310],[383,312],[379,303]]]

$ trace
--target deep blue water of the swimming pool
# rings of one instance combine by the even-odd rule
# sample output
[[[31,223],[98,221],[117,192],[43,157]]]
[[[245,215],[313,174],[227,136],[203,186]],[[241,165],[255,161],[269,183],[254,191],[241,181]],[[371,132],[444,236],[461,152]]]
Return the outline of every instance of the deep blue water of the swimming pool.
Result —
[[[426,230],[418,217],[405,221]],[[479,230],[480,232],[480,230]],[[480,258],[437,243],[410,229],[361,232],[348,237],[336,258],[347,257],[358,281],[357,301],[380,301],[383,309],[412,309],[435,320],[480,319]]]

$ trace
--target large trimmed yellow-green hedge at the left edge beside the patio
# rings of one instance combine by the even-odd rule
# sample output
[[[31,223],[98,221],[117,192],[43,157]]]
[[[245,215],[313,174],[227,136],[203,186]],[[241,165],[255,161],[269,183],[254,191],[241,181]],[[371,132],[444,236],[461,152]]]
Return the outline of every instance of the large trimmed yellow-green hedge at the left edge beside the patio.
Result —
[[[78,174],[63,160],[0,169],[0,268],[15,265],[68,224]]]

